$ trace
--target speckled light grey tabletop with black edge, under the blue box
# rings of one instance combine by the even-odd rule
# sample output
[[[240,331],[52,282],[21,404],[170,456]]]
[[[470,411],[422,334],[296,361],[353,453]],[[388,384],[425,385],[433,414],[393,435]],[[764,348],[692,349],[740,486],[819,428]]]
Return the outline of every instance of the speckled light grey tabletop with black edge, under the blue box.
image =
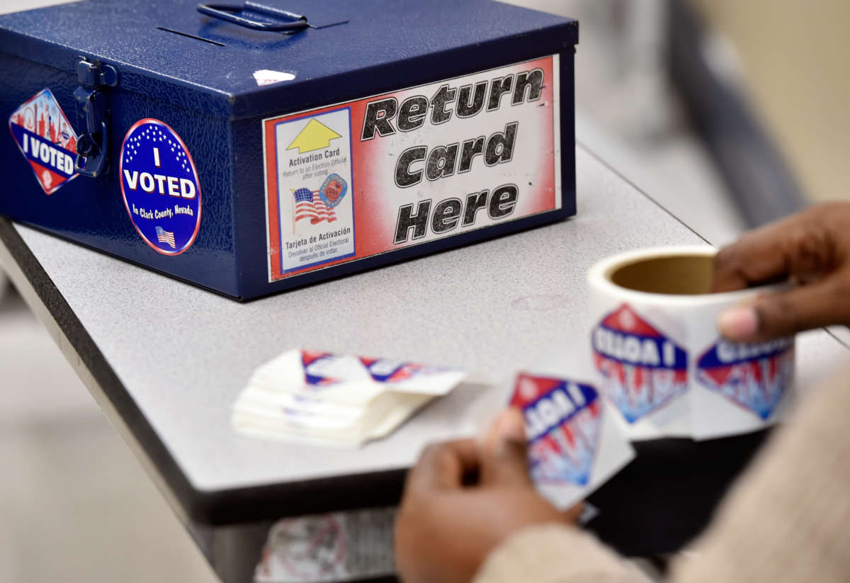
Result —
[[[424,444],[473,432],[473,410],[488,395],[501,405],[491,384],[534,365],[553,342],[587,342],[574,331],[587,325],[592,263],[701,241],[581,146],[576,169],[578,215],[568,221],[252,303],[5,219],[0,261],[215,563],[217,536],[249,529],[223,525],[393,503]],[[237,393],[257,365],[288,348],[461,365],[473,382],[360,450],[239,437],[229,423]],[[802,336],[800,385],[845,354],[826,331]],[[240,569],[219,575],[241,579]]]

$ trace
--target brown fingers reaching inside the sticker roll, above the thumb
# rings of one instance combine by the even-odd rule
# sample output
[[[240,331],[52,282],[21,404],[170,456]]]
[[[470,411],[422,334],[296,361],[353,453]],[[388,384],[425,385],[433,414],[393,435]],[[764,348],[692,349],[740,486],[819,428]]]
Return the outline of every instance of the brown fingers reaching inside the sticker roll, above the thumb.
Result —
[[[812,207],[742,236],[717,253],[712,291],[740,290],[794,275],[808,280],[836,268],[839,250],[833,233],[836,215],[850,217],[850,206]]]

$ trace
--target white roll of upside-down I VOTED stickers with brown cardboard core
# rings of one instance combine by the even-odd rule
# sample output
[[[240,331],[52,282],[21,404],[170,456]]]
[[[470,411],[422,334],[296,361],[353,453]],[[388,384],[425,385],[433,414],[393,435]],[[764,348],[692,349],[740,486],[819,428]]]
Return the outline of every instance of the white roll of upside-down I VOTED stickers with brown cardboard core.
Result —
[[[725,308],[777,286],[710,293],[716,250],[626,252],[588,274],[598,386],[631,439],[710,439],[747,433],[787,410],[794,339],[728,342]]]

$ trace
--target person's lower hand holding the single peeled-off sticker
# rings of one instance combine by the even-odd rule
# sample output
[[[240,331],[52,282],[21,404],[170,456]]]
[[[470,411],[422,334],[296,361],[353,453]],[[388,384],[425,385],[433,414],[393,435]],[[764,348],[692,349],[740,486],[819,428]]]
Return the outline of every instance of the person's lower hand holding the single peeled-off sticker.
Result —
[[[474,485],[465,485],[477,473]],[[429,446],[411,470],[395,521],[395,561],[405,583],[467,583],[484,558],[532,524],[575,522],[534,490],[519,410],[505,411],[484,442]]]

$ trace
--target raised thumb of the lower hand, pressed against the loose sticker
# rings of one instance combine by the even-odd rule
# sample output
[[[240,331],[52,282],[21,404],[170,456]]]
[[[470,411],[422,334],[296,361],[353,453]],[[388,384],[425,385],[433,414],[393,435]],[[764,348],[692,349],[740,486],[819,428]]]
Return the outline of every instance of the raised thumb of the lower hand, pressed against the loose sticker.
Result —
[[[496,418],[481,444],[480,484],[530,485],[525,424],[519,409],[508,409]]]

